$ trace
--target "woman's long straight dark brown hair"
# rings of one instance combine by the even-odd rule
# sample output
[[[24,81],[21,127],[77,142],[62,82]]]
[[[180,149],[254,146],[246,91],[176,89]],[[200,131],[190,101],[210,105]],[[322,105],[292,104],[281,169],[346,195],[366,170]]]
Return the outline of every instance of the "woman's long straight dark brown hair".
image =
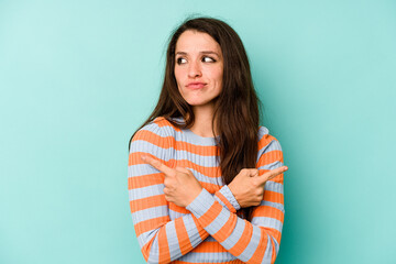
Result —
[[[222,90],[216,102],[212,128],[215,134],[215,125],[217,125],[216,131],[220,135],[220,140],[217,141],[219,164],[222,179],[228,185],[242,168],[256,166],[261,102],[254,90],[242,41],[223,21],[213,18],[188,19],[173,32],[166,52],[165,76],[158,102],[139,129],[157,117],[164,117],[179,129],[189,129],[194,124],[193,108],[179,94],[174,73],[176,43],[187,30],[209,34],[219,43],[223,54]],[[173,118],[177,117],[183,117],[185,122],[174,121]],[[252,208],[243,208],[248,219],[251,211]]]

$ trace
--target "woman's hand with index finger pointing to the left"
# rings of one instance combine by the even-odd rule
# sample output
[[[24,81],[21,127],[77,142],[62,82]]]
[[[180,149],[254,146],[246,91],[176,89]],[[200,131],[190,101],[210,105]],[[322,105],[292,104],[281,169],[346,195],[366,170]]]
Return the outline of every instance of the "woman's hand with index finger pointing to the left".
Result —
[[[179,207],[187,207],[201,193],[202,186],[187,168],[170,168],[147,155],[142,155],[141,158],[165,174],[164,194],[167,201]]]

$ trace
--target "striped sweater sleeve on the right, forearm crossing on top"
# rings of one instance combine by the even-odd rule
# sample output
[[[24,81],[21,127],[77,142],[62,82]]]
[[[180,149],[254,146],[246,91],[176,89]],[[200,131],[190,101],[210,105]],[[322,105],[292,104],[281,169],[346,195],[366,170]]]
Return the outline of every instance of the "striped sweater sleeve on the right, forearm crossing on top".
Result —
[[[283,153],[275,138],[260,140],[260,175],[283,165]],[[252,220],[226,210],[205,189],[186,207],[204,229],[227,251],[246,263],[274,263],[279,251],[284,221],[283,174],[265,184],[263,200],[252,212]]]

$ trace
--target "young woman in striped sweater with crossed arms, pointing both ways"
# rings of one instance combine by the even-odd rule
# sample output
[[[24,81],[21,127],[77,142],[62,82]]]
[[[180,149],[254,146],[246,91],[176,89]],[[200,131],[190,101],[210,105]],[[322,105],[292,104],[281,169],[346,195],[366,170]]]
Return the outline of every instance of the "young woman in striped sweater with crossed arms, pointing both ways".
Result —
[[[228,24],[198,18],[174,32],[157,106],[130,141],[130,206],[148,263],[275,262],[287,167],[257,105]]]

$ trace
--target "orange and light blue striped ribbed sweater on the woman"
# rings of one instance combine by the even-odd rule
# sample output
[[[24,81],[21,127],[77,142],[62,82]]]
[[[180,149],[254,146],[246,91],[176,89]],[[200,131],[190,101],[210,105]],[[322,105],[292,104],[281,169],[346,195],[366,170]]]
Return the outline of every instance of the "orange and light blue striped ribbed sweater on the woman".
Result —
[[[178,119],[182,121],[182,119]],[[156,118],[132,139],[129,199],[135,233],[147,263],[274,263],[284,222],[283,174],[265,184],[250,221],[227,185],[215,138],[201,138]],[[190,169],[202,191],[186,208],[165,199],[164,175],[143,163],[150,154],[169,167]],[[260,174],[283,166],[278,141],[258,129]]]

